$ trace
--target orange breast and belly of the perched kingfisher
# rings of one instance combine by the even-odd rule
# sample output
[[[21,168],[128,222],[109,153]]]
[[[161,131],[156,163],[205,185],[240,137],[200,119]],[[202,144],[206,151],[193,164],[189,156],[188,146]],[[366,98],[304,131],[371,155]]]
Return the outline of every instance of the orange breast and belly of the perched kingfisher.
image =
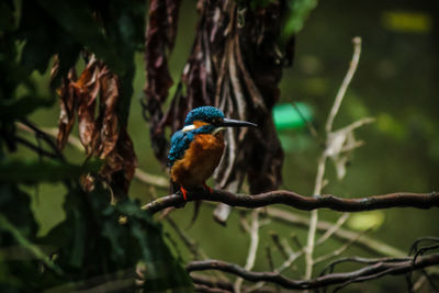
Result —
[[[224,151],[221,133],[199,134],[189,145],[184,156],[171,168],[171,180],[183,188],[199,187],[218,166]]]

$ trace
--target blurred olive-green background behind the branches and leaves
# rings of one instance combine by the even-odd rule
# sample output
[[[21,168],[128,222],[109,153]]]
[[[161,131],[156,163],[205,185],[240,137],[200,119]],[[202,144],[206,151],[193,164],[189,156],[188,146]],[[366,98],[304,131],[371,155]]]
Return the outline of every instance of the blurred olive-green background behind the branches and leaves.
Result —
[[[336,92],[344,79],[352,54],[351,38],[362,37],[362,54],[356,76],[342,102],[334,127],[342,127],[361,117],[376,121],[357,132],[365,145],[351,157],[347,176],[336,178],[334,166],[328,161],[326,178],[329,184],[325,193],[339,196],[364,196],[396,191],[431,192],[439,190],[439,48],[437,1],[319,1],[311,13],[303,31],[296,37],[294,66],[284,70],[280,84],[282,104],[303,103],[312,110],[313,124],[323,135],[326,116]],[[194,1],[183,1],[180,12],[179,33],[170,66],[175,80],[179,79],[194,36],[198,14]],[[138,167],[149,173],[167,177],[153,156],[148,125],[143,120],[139,100],[145,84],[145,64],[136,56],[134,99],[130,115],[130,134],[138,156]],[[40,91],[48,92],[48,72],[34,74]],[[56,127],[57,106],[41,110],[31,120],[43,127]],[[77,136],[77,131],[72,132]],[[279,129],[285,150],[282,189],[311,195],[320,148],[305,127]],[[30,139],[32,136],[29,136]],[[69,161],[81,162],[85,156],[75,147],[67,146]],[[15,156],[33,156],[21,150]],[[64,218],[65,191],[59,184],[42,184],[32,188],[33,209],[44,235]],[[166,195],[167,190],[151,192],[151,188],[134,180],[131,196],[143,203],[151,194]],[[184,233],[196,240],[210,258],[233,261],[244,266],[249,236],[239,228],[238,212],[234,212],[226,227],[212,217],[212,205],[203,204],[195,224],[187,229],[192,217],[192,204],[171,214]],[[291,210],[290,210],[291,211]],[[297,212],[308,216],[309,213]],[[339,213],[322,211],[322,219],[336,221]],[[363,214],[359,214],[361,217]],[[352,219],[353,217],[353,219]],[[347,227],[358,228],[352,215]],[[367,235],[408,252],[416,238],[439,235],[437,210],[393,209],[370,215],[367,223],[376,227]],[[175,230],[165,222],[165,229],[177,243],[184,260],[189,251]],[[360,228],[367,224],[360,224]],[[268,270],[266,246],[273,248],[273,261],[282,263],[282,256],[273,246],[272,230],[290,240],[291,234],[306,243],[306,230],[301,227],[271,223],[261,228],[261,243],[255,270]],[[316,250],[316,256],[331,251],[342,244],[330,240]],[[352,247],[344,256],[371,256]],[[290,277],[303,273],[302,259],[297,262],[300,273],[286,271]],[[317,266],[316,272],[323,267]],[[404,277],[386,277],[368,284],[352,285],[350,290],[364,286],[368,292],[405,289]]]

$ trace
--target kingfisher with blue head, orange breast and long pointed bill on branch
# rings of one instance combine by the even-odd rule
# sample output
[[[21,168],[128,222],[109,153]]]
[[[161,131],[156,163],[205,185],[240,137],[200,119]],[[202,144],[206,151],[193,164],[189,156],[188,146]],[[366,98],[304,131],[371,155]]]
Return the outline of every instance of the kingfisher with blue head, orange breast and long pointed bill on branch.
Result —
[[[171,182],[180,188],[184,200],[188,200],[188,190],[200,187],[212,193],[205,181],[223,156],[226,127],[257,127],[257,124],[226,119],[214,106],[200,106],[189,112],[183,128],[172,135],[168,166]]]

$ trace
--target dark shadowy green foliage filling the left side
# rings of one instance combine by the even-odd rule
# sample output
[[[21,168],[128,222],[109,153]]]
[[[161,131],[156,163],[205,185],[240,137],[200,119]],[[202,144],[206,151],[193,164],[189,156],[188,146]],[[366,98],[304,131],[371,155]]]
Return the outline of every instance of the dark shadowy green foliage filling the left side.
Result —
[[[41,97],[32,79],[45,72],[55,55],[59,67],[54,90],[82,50],[94,53],[117,74],[123,99],[120,123],[126,123],[133,92],[134,54],[143,47],[145,1],[23,0],[0,3],[0,291],[69,291],[114,280],[135,286],[135,270],[145,270],[146,291],[191,291],[188,273],[164,240],[161,226],[139,203],[111,205],[112,192],[95,178],[94,189],[79,184],[102,161],[74,165],[24,159],[16,150],[15,123],[55,104],[54,91]],[[20,90],[18,90],[20,89]],[[24,91],[23,91],[24,89]],[[40,145],[38,145],[40,147]],[[24,184],[61,182],[68,190],[66,218],[46,236],[37,224]],[[43,194],[44,196],[44,194]],[[122,221],[124,219],[124,221]]]

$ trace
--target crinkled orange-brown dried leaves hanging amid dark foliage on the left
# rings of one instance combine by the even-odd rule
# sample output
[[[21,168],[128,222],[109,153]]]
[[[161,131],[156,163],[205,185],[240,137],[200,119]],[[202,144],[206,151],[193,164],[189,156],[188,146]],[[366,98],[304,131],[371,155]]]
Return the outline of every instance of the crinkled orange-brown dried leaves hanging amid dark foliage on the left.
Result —
[[[137,159],[126,125],[120,123],[116,110],[121,98],[117,76],[91,55],[79,79],[69,75],[59,93],[59,145],[64,146],[67,140],[77,113],[79,137],[86,154],[105,160],[100,176],[113,190],[116,200],[124,196],[133,179]],[[100,106],[97,113],[98,100]],[[95,179],[90,176],[82,178],[82,187],[87,191],[93,189],[94,182]]]

